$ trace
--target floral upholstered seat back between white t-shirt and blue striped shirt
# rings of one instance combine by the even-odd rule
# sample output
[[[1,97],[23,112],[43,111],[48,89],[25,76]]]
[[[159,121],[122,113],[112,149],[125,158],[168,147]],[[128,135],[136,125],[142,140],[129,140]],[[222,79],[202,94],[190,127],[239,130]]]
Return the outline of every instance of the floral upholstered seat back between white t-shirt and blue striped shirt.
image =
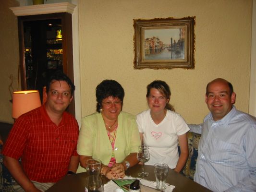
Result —
[[[181,173],[185,175],[187,178],[194,179],[195,175],[195,165],[196,165],[196,159],[198,156],[198,143],[200,140],[201,135],[194,133],[194,132],[188,132],[188,159],[187,162],[182,169]],[[178,150],[180,153],[180,147],[178,146]]]

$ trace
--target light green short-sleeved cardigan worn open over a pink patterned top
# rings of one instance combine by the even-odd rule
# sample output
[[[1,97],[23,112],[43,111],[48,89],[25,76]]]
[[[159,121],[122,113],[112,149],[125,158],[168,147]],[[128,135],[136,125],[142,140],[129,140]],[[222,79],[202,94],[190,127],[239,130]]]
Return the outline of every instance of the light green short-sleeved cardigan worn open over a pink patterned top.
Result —
[[[115,141],[115,158],[120,163],[130,153],[137,153],[140,136],[135,117],[121,112],[118,116],[118,128]],[[108,165],[112,155],[112,146],[100,113],[96,112],[82,119],[79,132],[77,153],[83,156],[98,158],[104,165]],[[84,172],[80,167],[77,173]]]

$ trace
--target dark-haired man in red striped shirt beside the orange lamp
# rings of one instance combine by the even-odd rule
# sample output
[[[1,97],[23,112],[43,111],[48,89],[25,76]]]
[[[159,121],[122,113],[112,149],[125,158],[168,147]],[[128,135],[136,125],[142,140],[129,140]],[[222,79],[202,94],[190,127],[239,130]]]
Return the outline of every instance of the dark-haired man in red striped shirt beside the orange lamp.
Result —
[[[74,89],[64,73],[53,74],[46,87],[47,102],[15,121],[2,154],[17,192],[46,191],[76,172],[79,129],[75,118],[65,111]]]

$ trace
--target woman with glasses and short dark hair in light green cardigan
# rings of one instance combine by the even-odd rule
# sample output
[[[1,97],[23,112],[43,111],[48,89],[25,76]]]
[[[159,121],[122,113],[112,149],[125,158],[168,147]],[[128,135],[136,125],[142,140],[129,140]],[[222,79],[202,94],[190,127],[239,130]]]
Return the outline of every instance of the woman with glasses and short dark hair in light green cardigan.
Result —
[[[96,88],[97,112],[82,119],[77,152],[85,171],[86,160],[98,158],[101,174],[108,179],[125,176],[125,170],[138,163],[140,137],[135,117],[122,112],[124,90],[114,80],[104,80]]]

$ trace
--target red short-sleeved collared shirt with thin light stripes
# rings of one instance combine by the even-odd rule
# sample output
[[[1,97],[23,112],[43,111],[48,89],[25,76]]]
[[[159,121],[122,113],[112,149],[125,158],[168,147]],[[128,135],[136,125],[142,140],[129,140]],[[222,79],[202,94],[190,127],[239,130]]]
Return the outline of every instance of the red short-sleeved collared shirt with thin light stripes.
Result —
[[[15,121],[2,154],[21,157],[30,180],[57,182],[66,175],[71,156],[77,156],[78,132],[77,121],[71,114],[64,112],[57,126],[42,106]]]

